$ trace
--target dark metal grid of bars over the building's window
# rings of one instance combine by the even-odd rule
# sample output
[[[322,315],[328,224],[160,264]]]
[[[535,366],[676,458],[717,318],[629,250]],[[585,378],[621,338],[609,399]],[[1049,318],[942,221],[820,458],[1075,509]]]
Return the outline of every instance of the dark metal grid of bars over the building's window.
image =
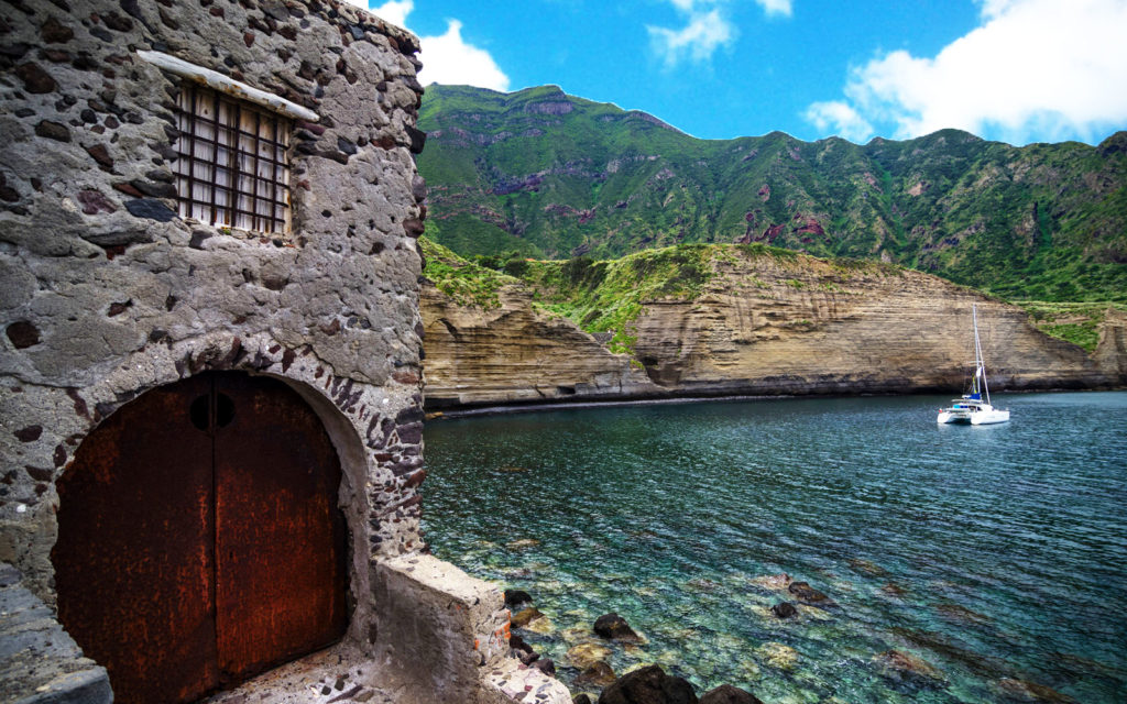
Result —
[[[180,216],[218,228],[289,232],[290,121],[189,81],[180,84],[178,108]]]

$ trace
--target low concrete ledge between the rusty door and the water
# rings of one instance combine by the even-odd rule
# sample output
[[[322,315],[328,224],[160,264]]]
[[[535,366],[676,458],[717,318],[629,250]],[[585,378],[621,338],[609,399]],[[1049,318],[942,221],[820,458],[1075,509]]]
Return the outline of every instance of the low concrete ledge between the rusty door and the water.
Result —
[[[570,703],[562,683],[508,656],[509,612],[497,587],[433,555],[372,567],[376,652],[415,684],[419,704]]]

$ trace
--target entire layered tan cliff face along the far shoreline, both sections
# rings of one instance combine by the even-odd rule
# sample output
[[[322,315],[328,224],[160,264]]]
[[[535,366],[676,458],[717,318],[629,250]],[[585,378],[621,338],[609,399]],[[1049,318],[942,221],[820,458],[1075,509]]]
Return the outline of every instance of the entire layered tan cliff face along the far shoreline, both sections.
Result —
[[[1121,315],[1089,356],[1022,310],[891,266],[729,248],[691,300],[647,300],[635,364],[569,320],[534,310],[523,284],[500,308],[459,305],[424,287],[431,408],[662,395],[955,393],[974,359],[971,304],[995,390],[1122,385]],[[645,372],[637,371],[642,366]]]

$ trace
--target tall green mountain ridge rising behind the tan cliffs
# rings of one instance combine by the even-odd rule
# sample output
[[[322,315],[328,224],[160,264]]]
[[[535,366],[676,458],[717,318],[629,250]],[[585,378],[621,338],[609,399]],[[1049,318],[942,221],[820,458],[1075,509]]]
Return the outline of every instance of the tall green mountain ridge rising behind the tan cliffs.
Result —
[[[500,266],[685,242],[881,259],[1009,298],[1127,300],[1127,132],[1014,148],[698,140],[565,95],[427,88],[427,234]]]

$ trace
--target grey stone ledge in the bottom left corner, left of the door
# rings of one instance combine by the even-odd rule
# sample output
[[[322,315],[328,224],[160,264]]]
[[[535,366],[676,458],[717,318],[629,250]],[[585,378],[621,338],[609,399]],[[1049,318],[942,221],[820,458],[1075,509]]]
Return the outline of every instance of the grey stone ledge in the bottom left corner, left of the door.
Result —
[[[15,704],[109,704],[106,668],[82,651],[54,613],[0,562],[0,693]]]

